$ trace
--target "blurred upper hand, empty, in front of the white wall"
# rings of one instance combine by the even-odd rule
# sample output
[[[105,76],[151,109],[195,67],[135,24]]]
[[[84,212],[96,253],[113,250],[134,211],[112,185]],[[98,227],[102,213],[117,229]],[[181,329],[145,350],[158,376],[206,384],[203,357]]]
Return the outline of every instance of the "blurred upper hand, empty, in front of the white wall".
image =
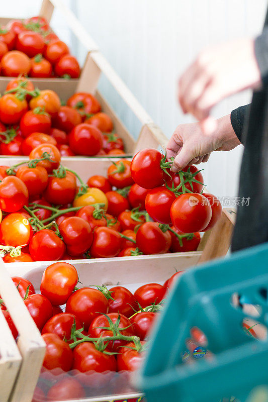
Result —
[[[254,40],[241,39],[201,52],[178,82],[178,101],[183,112],[191,113],[210,134],[216,129],[209,117],[213,106],[226,96],[260,85]]]

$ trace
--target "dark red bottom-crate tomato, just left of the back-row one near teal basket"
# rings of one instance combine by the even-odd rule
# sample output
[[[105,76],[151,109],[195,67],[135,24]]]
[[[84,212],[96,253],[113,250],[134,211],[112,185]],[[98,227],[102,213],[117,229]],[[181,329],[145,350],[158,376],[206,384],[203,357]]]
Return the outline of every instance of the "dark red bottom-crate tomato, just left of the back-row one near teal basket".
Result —
[[[120,313],[126,317],[130,317],[137,310],[135,297],[126,287],[115,286],[110,289],[111,297],[109,299],[109,313]]]

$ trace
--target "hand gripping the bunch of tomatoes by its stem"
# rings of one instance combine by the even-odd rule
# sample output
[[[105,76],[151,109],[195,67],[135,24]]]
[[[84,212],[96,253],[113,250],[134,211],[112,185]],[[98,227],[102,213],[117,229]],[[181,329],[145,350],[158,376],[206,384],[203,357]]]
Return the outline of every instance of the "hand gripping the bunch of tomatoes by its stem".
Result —
[[[216,120],[215,132],[207,135],[199,123],[180,124],[167,143],[166,157],[174,158],[171,170],[177,172],[185,166],[207,162],[213,151],[230,151],[241,144],[233,130],[230,115]]]

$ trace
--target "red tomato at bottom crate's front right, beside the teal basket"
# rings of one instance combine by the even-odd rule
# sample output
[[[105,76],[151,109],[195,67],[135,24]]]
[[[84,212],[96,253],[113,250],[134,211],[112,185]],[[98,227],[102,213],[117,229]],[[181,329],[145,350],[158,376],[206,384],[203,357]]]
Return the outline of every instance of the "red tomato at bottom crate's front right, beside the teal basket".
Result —
[[[141,342],[141,344],[145,345],[145,342]],[[133,348],[135,348],[135,344],[130,342],[125,348],[121,349],[121,353],[117,355],[117,371],[136,371],[141,367],[144,353],[138,352]]]

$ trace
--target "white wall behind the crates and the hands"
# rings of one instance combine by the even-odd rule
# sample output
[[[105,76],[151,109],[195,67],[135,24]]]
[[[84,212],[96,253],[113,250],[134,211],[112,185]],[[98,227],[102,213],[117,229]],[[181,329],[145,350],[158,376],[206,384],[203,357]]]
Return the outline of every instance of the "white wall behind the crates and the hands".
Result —
[[[177,106],[177,77],[204,46],[259,33],[266,9],[266,0],[65,2],[167,137],[177,124],[192,121]],[[25,0],[23,9],[18,0],[11,3],[2,4],[3,16],[14,15],[14,12],[17,16],[35,14],[41,2]],[[58,14],[53,17],[52,26],[72,45],[72,51],[82,62],[85,49],[77,46]],[[137,136],[140,126],[133,115],[105,80],[101,80],[100,86]],[[250,102],[250,96],[245,92],[224,100],[213,111],[214,116],[223,116]],[[236,194],[241,148],[228,153],[216,152],[202,166],[210,191],[219,196]]]

